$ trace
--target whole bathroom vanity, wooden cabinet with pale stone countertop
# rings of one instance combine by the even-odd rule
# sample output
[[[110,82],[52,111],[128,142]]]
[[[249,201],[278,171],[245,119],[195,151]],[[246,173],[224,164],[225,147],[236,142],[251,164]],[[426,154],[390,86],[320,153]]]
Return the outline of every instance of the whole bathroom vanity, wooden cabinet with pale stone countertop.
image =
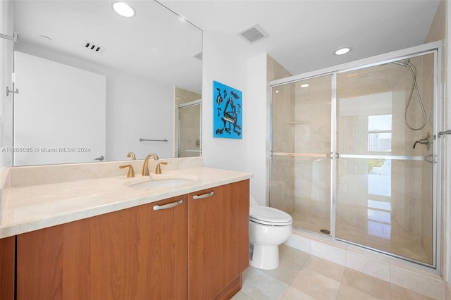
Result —
[[[249,263],[252,175],[203,167],[166,172],[166,178],[182,175],[196,179],[137,189],[133,185],[146,178],[47,185],[47,197],[89,185],[92,204],[75,206],[72,213],[60,207],[62,213],[51,212],[51,220],[3,220],[0,299],[230,299],[241,289]],[[111,190],[101,194],[108,181]],[[92,196],[94,186],[99,189]],[[12,188],[9,201],[43,188]],[[49,205],[46,196],[37,198],[29,201],[32,206],[34,201]],[[63,206],[70,198],[61,201]],[[20,215],[20,208],[9,204]],[[48,226],[62,219],[69,221]],[[33,226],[36,230],[29,230]],[[20,232],[21,227],[27,230]]]

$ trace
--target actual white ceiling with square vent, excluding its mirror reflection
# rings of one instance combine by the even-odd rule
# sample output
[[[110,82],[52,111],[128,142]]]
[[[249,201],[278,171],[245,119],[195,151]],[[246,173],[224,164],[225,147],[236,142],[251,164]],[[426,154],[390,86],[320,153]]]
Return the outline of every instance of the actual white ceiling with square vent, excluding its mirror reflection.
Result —
[[[205,32],[248,54],[268,53],[293,75],[424,43],[437,0],[160,0]],[[258,24],[268,38],[237,33]],[[351,46],[344,56],[333,54]]]

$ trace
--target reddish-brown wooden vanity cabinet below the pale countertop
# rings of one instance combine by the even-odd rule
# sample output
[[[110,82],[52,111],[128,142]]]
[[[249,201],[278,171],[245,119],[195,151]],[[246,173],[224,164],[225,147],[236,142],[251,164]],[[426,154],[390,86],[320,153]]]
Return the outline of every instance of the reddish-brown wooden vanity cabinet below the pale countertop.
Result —
[[[17,300],[230,299],[249,264],[249,180],[2,239],[11,261],[15,242]]]

